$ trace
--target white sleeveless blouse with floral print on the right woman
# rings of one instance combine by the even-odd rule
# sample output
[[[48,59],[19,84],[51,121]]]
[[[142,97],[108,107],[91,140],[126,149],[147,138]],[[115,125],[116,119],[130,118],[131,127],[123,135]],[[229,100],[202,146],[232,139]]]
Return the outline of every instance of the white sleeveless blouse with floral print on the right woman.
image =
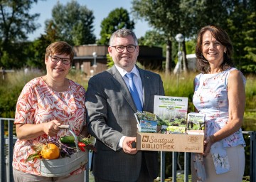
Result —
[[[228,76],[233,70],[237,69],[229,68],[221,73],[196,76],[193,105],[198,112],[206,114],[206,137],[218,132],[228,123]],[[246,80],[243,75],[242,79],[245,84]],[[216,173],[229,171],[230,166],[225,148],[239,144],[245,146],[242,129],[211,146],[210,153]]]

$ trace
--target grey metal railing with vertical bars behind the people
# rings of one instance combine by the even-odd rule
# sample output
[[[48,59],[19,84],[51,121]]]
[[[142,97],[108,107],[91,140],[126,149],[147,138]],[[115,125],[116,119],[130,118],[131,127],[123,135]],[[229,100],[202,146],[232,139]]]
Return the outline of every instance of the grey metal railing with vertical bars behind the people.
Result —
[[[6,124],[4,122],[8,122],[8,137],[4,135],[4,127]],[[0,118],[0,180],[2,182],[12,182],[13,178],[13,170],[12,170],[12,157],[14,150],[14,143],[16,138],[13,135],[13,127],[14,127],[14,119],[12,118]],[[256,182],[256,132],[242,132],[243,134],[249,134],[250,136],[250,182]],[[178,152],[172,152],[172,181],[177,181],[177,164],[179,163]],[[190,153],[184,154],[184,165],[183,165],[183,173],[184,173],[184,182],[188,182],[188,174],[190,168]],[[161,159],[160,166],[160,181],[165,181],[165,169],[166,169],[166,152],[159,152],[159,156]],[[85,171],[85,182],[89,182],[89,163],[86,168],[88,170]],[[246,164],[248,165],[248,164]]]

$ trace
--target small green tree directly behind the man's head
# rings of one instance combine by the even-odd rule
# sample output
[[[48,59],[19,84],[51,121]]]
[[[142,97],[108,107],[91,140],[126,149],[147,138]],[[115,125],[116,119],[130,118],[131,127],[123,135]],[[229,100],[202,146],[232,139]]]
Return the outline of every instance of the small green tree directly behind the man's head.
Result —
[[[97,41],[100,45],[108,45],[110,36],[114,31],[120,28],[134,29],[134,21],[130,21],[128,11],[126,9],[114,9],[110,12],[107,18],[104,18],[100,25],[100,40]]]

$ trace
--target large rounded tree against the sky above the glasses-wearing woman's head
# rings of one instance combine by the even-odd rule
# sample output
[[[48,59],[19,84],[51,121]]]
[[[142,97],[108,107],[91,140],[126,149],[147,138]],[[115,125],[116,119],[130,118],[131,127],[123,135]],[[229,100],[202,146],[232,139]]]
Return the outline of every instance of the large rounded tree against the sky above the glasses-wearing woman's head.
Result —
[[[66,6],[58,3],[53,6],[53,18],[46,21],[46,33],[55,33],[55,41],[66,41],[70,45],[95,43],[93,34],[94,16],[86,6],[80,6],[77,1],[70,1]],[[58,35],[58,36],[56,36]],[[53,38],[53,34],[51,35]]]

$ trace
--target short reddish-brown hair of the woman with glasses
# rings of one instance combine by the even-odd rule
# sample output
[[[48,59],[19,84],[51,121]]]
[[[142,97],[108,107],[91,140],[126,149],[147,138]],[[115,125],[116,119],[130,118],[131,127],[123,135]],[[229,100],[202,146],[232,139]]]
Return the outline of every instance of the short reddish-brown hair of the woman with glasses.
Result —
[[[69,45],[68,43],[66,43],[64,41],[58,41],[58,42],[54,42],[54,43],[51,43],[50,45],[48,45],[48,47],[46,48],[45,59],[47,59],[49,57],[49,55],[53,55],[55,53],[69,55],[70,62],[73,63],[73,58],[74,58],[75,52],[74,52],[72,46]]]

